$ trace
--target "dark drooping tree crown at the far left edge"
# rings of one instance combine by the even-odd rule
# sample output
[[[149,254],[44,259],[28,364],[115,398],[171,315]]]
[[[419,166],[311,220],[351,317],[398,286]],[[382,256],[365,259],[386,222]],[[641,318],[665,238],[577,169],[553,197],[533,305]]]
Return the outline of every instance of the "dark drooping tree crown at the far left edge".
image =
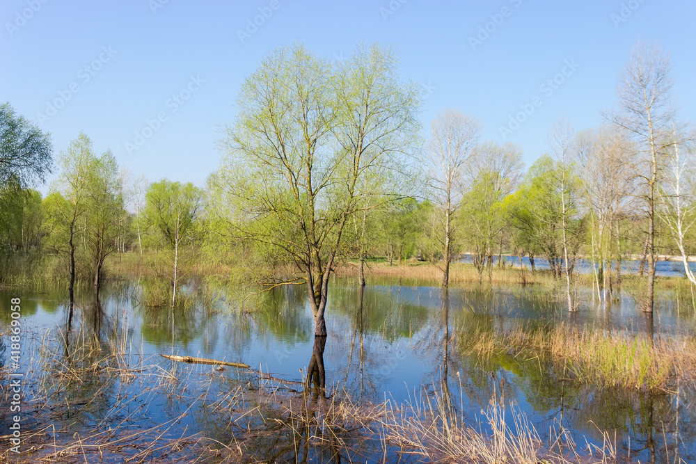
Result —
[[[53,147],[49,134],[22,116],[9,103],[0,105],[0,184],[10,177],[26,186],[51,172]]]

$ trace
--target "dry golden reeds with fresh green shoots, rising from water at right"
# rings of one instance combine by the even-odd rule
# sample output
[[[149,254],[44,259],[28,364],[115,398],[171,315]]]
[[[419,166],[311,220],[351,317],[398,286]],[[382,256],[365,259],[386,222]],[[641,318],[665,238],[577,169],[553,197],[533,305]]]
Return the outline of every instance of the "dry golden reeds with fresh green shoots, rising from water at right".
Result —
[[[504,332],[465,326],[455,339],[466,353],[538,358],[567,367],[577,381],[610,388],[665,390],[696,368],[696,345],[686,339],[653,340],[565,324],[537,329],[517,324]]]

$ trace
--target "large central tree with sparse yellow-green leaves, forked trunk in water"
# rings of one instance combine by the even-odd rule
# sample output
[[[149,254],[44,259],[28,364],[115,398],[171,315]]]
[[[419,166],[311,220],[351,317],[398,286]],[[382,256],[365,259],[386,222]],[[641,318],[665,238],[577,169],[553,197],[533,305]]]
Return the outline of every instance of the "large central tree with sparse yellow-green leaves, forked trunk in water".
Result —
[[[351,218],[398,198],[417,134],[418,94],[388,48],[358,47],[331,65],[302,45],[264,58],[239,93],[226,157],[212,177],[214,214],[267,264],[307,285],[315,335],[326,336],[329,276]]]

